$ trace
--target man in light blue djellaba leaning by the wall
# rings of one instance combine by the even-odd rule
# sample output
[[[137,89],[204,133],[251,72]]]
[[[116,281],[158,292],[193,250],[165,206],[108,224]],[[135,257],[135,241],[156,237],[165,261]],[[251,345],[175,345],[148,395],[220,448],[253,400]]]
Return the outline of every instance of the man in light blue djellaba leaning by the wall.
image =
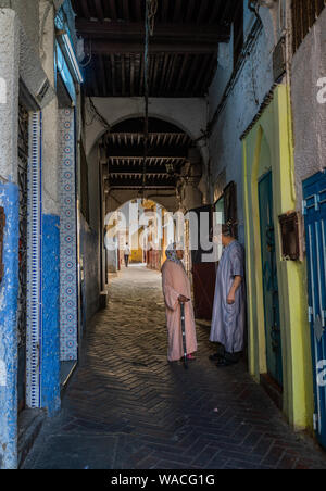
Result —
[[[244,250],[233,236],[233,224],[222,226],[217,240],[224,251],[218,264],[210,341],[220,351],[210,356],[217,366],[237,363],[243,350],[246,326]]]

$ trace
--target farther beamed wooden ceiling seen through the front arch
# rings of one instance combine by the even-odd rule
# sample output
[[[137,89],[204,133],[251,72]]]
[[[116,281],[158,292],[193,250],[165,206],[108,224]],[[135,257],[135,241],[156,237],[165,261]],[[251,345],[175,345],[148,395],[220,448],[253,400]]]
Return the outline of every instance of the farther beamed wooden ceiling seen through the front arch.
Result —
[[[106,154],[103,177],[108,182],[108,189],[142,189],[145,172],[142,128],[143,119],[129,119],[103,137],[101,144]],[[160,119],[150,118],[149,128],[145,188],[175,190],[178,174],[187,162],[192,140],[176,126]]]

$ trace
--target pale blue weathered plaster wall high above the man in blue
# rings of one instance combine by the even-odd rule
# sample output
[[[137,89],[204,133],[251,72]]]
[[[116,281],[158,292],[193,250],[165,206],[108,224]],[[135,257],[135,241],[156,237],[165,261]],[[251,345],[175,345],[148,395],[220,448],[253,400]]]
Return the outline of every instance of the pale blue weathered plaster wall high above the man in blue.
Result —
[[[255,21],[253,13],[244,10],[244,32],[249,35]],[[255,116],[265,96],[273,86],[272,52],[275,46],[274,25],[267,9],[261,9],[264,27],[260,33],[246,64],[240,68],[224,109],[220,113],[210,138],[212,186],[225,171],[225,186],[234,180],[238,193],[239,239],[244,242],[242,193],[242,144],[240,136]],[[210,88],[210,119],[221,103],[233,71],[233,42],[220,50],[218,68]]]

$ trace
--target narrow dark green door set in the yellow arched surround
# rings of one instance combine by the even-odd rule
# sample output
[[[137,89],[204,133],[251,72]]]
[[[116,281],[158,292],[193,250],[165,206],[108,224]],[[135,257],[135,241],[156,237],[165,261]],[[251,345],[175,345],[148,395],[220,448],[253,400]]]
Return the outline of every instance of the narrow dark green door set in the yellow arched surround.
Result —
[[[278,280],[275,252],[272,172],[259,182],[263,295],[268,375],[283,386]]]

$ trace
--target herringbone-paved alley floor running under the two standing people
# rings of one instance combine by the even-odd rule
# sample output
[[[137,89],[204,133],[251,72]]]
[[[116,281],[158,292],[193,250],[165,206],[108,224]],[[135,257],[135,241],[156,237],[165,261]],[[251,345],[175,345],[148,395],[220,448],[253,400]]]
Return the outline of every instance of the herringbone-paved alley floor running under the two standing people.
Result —
[[[326,468],[326,454],[294,435],[242,364],[208,360],[198,326],[188,370],[166,361],[161,276],[130,267],[110,286],[83,358],[25,468]]]

